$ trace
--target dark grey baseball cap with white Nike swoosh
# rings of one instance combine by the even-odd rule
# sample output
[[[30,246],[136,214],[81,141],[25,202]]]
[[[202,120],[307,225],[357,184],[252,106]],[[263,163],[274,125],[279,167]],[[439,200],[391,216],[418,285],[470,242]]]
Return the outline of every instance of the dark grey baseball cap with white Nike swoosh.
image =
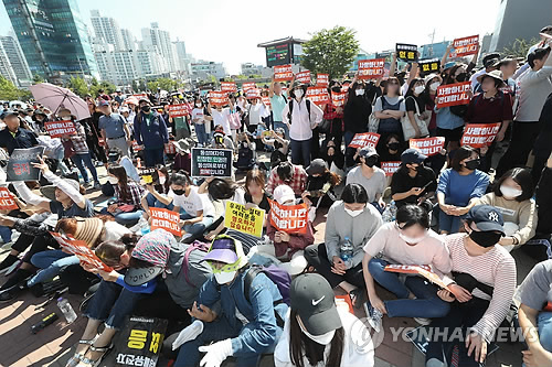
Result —
[[[289,289],[291,309],[297,311],[307,332],[322,335],[342,326],[330,283],[320,274],[294,279]]]

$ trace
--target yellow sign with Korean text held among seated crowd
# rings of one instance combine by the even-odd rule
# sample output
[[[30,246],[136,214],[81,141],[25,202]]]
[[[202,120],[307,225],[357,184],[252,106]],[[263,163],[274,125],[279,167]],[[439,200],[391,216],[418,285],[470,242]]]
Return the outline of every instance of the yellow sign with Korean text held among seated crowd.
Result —
[[[265,211],[259,208],[246,209],[245,205],[226,202],[224,227],[261,238]]]

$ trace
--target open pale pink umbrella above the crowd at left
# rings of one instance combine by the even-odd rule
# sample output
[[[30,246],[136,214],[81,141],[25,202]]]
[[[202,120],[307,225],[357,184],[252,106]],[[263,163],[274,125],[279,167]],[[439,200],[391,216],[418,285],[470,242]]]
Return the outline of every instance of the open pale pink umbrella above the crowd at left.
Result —
[[[54,114],[60,108],[67,108],[77,120],[91,117],[88,105],[67,88],[59,87],[50,83],[40,83],[29,87],[34,99],[50,108]]]

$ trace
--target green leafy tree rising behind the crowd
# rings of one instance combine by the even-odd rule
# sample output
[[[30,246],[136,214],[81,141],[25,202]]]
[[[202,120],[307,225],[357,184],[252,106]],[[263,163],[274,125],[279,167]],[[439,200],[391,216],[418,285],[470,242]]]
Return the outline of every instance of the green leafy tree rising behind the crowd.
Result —
[[[330,78],[340,77],[350,67],[359,52],[354,31],[336,25],[321,30],[302,44],[301,65],[311,73],[327,73]]]

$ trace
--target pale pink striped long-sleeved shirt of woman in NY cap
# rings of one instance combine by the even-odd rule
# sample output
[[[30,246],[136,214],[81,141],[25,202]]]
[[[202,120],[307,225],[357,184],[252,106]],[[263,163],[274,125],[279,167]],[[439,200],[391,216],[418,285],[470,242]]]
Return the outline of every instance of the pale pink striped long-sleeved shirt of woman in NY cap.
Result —
[[[468,255],[464,247],[466,236],[466,234],[446,236],[445,244],[450,252],[453,271],[468,273],[477,281],[493,287],[492,298],[478,289],[471,292],[474,296],[490,301],[482,317],[471,327],[471,331],[490,343],[510,310],[517,285],[516,261],[502,246],[497,245],[487,253]],[[445,278],[445,282],[453,281]]]

